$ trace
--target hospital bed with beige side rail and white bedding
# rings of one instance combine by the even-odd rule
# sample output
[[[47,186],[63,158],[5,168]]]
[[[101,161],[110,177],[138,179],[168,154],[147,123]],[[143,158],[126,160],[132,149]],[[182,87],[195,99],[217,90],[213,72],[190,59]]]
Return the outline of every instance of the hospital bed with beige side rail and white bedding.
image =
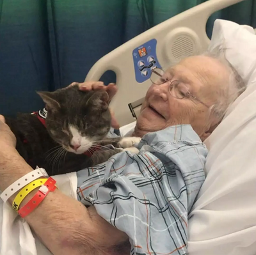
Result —
[[[189,215],[189,255],[256,254],[256,35],[252,27],[225,20],[215,22],[211,42],[205,33],[212,13],[241,1],[209,0],[180,13],[104,56],[86,76],[97,81],[107,70],[116,72],[119,91],[111,107],[125,134],[134,127],[150,86],[150,68],[165,68],[208,47],[221,47],[222,40],[227,43],[226,57],[248,88],[205,141],[207,177]],[[76,173],[56,180],[64,194],[76,199]],[[1,201],[0,212],[0,255],[51,254]]]

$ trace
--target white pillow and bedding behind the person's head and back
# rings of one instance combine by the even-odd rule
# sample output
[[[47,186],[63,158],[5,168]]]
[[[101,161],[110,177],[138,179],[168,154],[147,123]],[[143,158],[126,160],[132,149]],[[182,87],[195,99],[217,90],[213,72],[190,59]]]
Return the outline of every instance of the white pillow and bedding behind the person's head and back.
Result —
[[[205,141],[207,178],[189,219],[189,255],[256,254],[256,35],[252,27],[216,20],[210,50],[248,82]]]

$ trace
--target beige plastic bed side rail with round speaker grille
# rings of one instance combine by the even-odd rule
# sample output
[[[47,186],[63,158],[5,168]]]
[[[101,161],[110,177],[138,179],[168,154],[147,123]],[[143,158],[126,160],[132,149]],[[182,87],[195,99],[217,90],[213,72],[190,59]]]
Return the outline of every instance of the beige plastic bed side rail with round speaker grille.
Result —
[[[156,52],[152,54],[157,59],[156,66],[162,68],[179,59],[199,54],[207,49],[210,42],[205,27],[212,13],[241,1],[244,0],[209,0],[148,29],[99,59],[92,66],[85,81],[99,81],[104,72],[113,70],[116,73],[118,94],[113,98],[110,107],[115,109],[115,116],[121,126],[135,121],[151,85],[150,69],[145,77],[143,73],[138,74],[138,50],[143,45],[147,45],[147,49],[150,49],[150,45],[154,48],[155,43]]]

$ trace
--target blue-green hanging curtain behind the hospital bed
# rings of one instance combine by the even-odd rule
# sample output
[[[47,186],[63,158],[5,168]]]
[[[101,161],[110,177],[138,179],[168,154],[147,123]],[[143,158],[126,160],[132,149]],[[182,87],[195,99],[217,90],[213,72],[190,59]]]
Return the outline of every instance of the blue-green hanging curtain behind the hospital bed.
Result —
[[[131,38],[204,0],[0,0],[0,112],[42,107],[36,90],[83,81],[92,65]],[[256,0],[214,13],[256,27]],[[115,76],[107,73],[104,82]]]

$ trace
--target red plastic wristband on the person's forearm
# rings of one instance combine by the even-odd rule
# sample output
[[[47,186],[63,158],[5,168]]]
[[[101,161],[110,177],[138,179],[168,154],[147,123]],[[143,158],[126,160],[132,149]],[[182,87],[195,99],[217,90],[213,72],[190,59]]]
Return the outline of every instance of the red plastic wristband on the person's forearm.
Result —
[[[40,187],[38,192],[36,192],[35,196],[33,196],[26,205],[20,208],[20,210],[18,211],[20,217],[24,218],[29,215],[29,213],[33,212],[33,210],[35,210],[35,208],[40,205],[40,203],[44,200],[44,198],[47,196],[47,194],[49,194],[50,191],[54,192],[54,190],[56,189],[55,183],[56,180],[49,177],[44,185]]]

